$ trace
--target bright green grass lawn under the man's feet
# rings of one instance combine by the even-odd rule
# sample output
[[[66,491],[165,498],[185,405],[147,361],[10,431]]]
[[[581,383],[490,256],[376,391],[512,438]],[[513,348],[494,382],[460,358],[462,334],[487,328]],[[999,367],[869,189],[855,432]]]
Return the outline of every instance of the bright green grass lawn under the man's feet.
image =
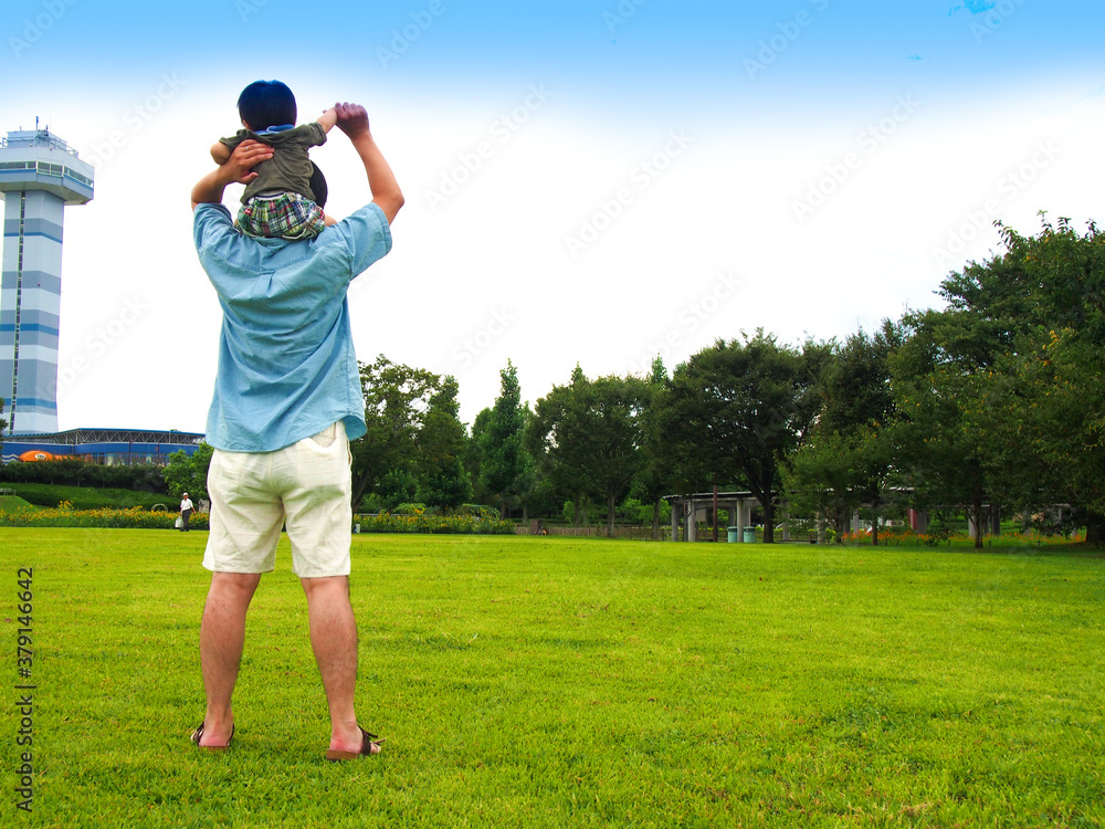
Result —
[[[1105,821],[1093,552],[355,536],[358,713],[388,742],[332,765],[286,539],[234,746],[188,743],[204,541],[0,529],[9,597],[34,566],[38,685],[34,811],[9,703],[0,826]]]

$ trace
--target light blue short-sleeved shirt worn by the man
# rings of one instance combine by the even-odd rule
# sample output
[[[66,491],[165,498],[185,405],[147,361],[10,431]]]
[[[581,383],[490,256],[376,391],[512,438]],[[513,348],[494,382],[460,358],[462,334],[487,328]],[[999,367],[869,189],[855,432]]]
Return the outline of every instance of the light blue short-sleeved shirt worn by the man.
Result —
[[[273,452],[338,420],[349,440],[362,436],[346,292],[391,250],[383,211],[367,204],[314,239],[293,242],[245,237],[222,204],[200,204],[193,232],[222,305],[207,442],[228,452]]]

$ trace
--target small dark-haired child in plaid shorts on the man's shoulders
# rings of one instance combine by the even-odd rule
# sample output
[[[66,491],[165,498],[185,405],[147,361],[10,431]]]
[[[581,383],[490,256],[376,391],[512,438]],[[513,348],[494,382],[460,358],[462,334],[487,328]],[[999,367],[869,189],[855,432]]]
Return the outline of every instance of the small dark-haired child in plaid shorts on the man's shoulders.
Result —
[[[280,81],[255,81],[238,98],[244,129],[233,138],[220,138],[211,147],[211,158],[223,165],[234,147],[248,138],[267,144],[273,157],[256,167],[257,176],[245,187],[235,227],[252,237],[313,239],[334,219],[323,212],[311,188],[309,147],[326,141],[337,123],[334,107],[318,120],[295,124],[295,96]]]

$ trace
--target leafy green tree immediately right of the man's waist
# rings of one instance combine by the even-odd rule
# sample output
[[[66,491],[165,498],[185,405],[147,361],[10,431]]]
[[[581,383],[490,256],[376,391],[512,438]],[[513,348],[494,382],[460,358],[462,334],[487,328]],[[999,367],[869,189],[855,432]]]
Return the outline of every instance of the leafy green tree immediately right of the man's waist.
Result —
[[[409,501],[414,496],[410,482],[418,462],[418,434],[431,398],[440,391],[441,378],[392,363],[381,354],[375,363],[360,364],[360,385],[368,431],[350,444],[354,510],[389,473],[389,502],[403,494],[409,495],[403,501]]]

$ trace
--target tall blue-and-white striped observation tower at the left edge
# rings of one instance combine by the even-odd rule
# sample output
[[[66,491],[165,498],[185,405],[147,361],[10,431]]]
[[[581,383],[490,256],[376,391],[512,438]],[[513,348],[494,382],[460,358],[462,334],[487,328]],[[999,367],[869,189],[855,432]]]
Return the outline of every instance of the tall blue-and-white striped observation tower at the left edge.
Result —
[[[49,128],[0,140],[0,398],[9,434],[57,431],[62,225],[65,206],[87,203],[92,190],[92,165]]]

